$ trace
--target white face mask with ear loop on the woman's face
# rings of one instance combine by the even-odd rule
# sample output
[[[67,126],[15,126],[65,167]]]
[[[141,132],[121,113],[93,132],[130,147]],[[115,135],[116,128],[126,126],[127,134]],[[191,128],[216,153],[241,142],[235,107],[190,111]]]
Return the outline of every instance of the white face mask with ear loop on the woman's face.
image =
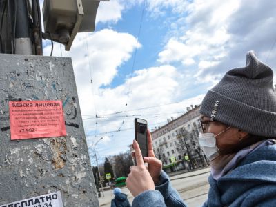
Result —
[[[226,128],[226,130],[228,130],[229,128],[230,126]],[[219,149],[216,146],[215,137],[221,135],[223,132],[226,132],[226,130],[219,132],[217,135],[214,135],[213,133],[199,133],[199,146],[210,161],[212,161],[219,155]]]

